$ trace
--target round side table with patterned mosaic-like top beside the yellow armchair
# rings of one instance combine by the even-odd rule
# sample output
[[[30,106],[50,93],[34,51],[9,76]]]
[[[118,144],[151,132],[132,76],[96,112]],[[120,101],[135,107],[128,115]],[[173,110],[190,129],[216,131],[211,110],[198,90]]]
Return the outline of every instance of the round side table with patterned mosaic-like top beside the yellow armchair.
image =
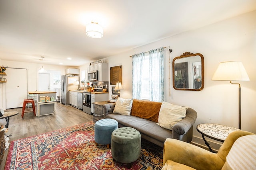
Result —
[[[234,127],[229,127],[226,125],[219,125],[215,123],[202,123],[197,125],[196,130],[202,134],[205,144],[211,152],[214,152],[210,147],[210,144],[206,141],[204,136],[214,139],[216,141],[224,142],[228,135],[233,131],[240,131]]]

